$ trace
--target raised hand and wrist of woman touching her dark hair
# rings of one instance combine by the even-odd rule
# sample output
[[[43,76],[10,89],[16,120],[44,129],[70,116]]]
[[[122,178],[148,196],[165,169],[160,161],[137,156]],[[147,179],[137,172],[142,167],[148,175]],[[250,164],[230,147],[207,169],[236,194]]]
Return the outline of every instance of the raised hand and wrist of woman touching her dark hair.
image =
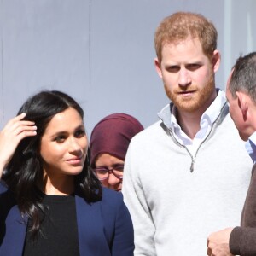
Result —
[[[0,178],[5,166],[8,165],[15,149],[25,137],[35,136],[37,127],[32,121],[23,120],[26,113],[21,113],[9,122],[0,131]]]

